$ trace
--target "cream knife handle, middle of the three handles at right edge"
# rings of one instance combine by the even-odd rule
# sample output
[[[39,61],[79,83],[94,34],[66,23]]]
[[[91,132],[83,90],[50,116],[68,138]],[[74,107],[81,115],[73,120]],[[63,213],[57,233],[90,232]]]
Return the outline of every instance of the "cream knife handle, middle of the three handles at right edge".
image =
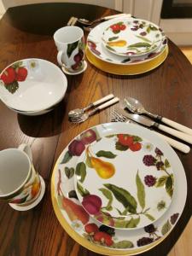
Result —
[[[181,140],[192,144],[192,136],[189,134],[183,133],[182,131],[177,131],[177,130],[172,129],[166,125],[160,125],[160,124],[155,123],[154,126],[159,128],[161,131],[166,131],[167,133],[172,134],[172,136],[178,137]]]

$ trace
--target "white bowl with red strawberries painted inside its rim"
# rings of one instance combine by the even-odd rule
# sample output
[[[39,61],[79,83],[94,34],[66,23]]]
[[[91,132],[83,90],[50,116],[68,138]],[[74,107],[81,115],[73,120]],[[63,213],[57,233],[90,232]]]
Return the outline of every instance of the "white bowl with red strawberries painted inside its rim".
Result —
[[[0,98],[17,113],[47,113],[61,102],[66,90],[65,74],[42,59],[16,61],[0,74]]]

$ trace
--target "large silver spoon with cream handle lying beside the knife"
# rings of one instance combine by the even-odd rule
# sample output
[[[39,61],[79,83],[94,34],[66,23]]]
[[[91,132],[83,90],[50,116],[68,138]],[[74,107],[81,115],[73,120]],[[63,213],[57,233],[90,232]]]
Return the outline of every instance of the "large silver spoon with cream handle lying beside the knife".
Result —
[[[148,112],[143,107],[143,104],[141,102],[137,101],[137,99],[128,97],[127,99],[124,99],[124,102],[125,102],[125,108],[128,108],[132,113],[139,113],[139,114],[145,113],[152,119],[157,119],[157,120],[165,123],[166,125],[172,126],[173,128],[177,129],[178,131],[183,131],[184,133],[192,135],[192,129],[190,129],[184,125],[180,125],[177,122],[172,121],[171,119],[166,119],[165,117],[161,117],[158,114]]]

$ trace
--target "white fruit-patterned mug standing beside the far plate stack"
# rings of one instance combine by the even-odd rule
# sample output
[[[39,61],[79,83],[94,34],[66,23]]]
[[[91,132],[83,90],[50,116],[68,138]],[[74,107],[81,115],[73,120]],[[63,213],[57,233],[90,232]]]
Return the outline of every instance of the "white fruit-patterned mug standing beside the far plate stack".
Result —
[[[64,26],[54,34],[57,61],[69,73],[84,69],[84,31],[79,26]]]

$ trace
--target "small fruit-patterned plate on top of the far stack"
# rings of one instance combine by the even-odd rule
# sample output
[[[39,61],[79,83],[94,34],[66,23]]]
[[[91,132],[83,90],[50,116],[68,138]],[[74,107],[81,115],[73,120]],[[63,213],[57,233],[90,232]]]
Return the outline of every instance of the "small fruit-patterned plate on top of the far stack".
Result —
[[[146,55],[160,47],[160,28],[147,20],[127,18],[110,20],[102,33],[102,44],[115,55]]]

